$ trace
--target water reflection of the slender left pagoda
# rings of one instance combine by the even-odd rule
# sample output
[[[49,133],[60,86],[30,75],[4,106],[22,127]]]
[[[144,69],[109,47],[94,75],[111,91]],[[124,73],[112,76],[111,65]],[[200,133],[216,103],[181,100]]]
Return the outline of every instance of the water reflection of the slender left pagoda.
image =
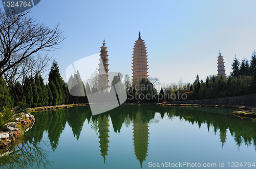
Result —
[[[101,116],[99,116],[98,119],[98,127],[99,127],[99,143],[100,143],[100,152],[104,159],[105,163],[105,156],[108,155],[108,147],[109,147],[109,118],[104,115],[104,117],[101,119]]]

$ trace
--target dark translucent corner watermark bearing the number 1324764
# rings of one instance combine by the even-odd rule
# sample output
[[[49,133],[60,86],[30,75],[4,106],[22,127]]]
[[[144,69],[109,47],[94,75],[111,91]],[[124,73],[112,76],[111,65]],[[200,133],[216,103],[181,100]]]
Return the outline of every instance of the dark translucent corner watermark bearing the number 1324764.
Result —
[[[14,15],[36,6],[40,0],[2,0],[6,14]]]

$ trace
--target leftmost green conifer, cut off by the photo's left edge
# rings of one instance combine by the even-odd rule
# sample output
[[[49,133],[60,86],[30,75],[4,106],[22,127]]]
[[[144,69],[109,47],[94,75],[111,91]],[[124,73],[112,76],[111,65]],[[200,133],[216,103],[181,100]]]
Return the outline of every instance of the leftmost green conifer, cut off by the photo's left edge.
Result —
[[[0,111],[5,108],[11,108],[13,106],[13,101],[9,94],[8,87],[6,86],[6,82],[4,78],[0,77]]]

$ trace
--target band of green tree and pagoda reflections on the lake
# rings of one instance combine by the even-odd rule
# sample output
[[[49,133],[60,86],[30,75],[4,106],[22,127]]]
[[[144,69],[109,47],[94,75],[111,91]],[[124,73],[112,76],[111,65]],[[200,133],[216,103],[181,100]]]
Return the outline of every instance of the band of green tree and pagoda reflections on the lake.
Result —
[[[55,111],[35,112],[36,122],[25,133],[24,141],[15,151],[0,158],[2,168],[34,168],[35,166],[47,166],[51,161],[47,159],[48,152],[44,149],[46,142],[42,141],[44,133],[48,134],[48,145],[53,151],[58,147],[59,137],[68,124],[78,140],[84,123],[98,135],[99,154],[105,162],[109,151],[109,122],[113,130],[120,133],[122,127],[133,125],[134,155],[142,167],[148,153],[150,127],[148,124],[158,123],[161,119],[179,118],[191,124],[197,124],[201,128],[206,124],[208,131],[214,129],[215,134],[220,132],[220,146],[226,143],[229,131],[238,146],[253,145],[256,147],[256,123],[251,120],[240,119],[232,116],[231,109],[205,108],[205,107],[164,107],[154,105],[122,105],[103,114],[92,116],[89,106],[72,107],[69,109],[57,109]],[[160,113],[160,116],[155,116]],[[3,154],[0,154],[3,155]]]

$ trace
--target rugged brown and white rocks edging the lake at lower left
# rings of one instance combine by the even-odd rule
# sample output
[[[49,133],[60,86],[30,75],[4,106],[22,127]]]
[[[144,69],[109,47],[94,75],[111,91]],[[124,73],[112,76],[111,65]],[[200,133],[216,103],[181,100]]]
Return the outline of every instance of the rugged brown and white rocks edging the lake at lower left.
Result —
[[[0,150],[7,150],[10,146],[18,144],[20,137],[32,128],[35,118],[31,114],[20,112],[20,118],[16,118],[15,122],[9,122],[0,129]]]

